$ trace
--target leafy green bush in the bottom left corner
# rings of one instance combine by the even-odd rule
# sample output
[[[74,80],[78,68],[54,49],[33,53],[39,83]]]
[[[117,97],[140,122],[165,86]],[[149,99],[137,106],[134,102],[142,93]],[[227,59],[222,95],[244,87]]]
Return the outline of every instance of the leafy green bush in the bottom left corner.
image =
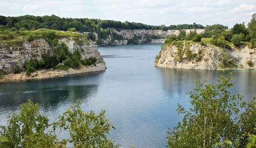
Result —
[[[21,110],[8,117],[7,126],[0,126],[0,134],[8,141],[1,148],[53,148],[56,136],[46,133],[49,120],[39,111],[39,104],[30,100]]]

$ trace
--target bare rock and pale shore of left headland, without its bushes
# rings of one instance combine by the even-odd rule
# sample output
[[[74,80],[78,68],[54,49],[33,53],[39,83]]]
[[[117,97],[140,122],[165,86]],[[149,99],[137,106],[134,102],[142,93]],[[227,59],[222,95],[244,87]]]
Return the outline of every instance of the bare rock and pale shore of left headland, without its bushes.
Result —
[[[95,71],[105,71],[106,64],[100,56],[97,45],[83,37],[58,37],[56,44],[64,43],[68,47],[68,52],[74,54],[76,50],[80,51],[80,59],[93,57],[96,62],[91,65],[80,65],[79,68],[68,68],[67,70],[40,69],[27,75],[25,71],[25,62],[31,59],[42,60],[44,54],[53,55],[54,47],[49,40],[43,37],[35,37],[32,40],[20,37],[20,42],[0,43],[0,70],[9,74],[2,75],[0,81],[14,81],[26,79],[41,79],[65,76],[70,74],[80,74]],[[59,65],[63,65],[64,61]],[[21,72],[13,74],[15,67]],[[23,71],[23,72],[22,72]]]

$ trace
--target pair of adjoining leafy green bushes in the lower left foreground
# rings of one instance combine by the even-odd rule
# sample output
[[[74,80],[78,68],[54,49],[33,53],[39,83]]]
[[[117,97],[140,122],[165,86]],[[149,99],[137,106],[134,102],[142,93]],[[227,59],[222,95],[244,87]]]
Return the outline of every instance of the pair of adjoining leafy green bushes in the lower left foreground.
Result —
[[[48,130],[52,128],[53,130]],[[70,133],[70,139],[58,142],[55,130]],[[30,100],[22,104],[20,111],[8,117],[7,125],[0,126],[1,148],[66,148],[67,143],[74,148],[117,148],[107,134],[115,129],[105,118],[105,111],[98,115],[81,109],[81,101],[72,105],[56,122],[39,111],[39,104]]]

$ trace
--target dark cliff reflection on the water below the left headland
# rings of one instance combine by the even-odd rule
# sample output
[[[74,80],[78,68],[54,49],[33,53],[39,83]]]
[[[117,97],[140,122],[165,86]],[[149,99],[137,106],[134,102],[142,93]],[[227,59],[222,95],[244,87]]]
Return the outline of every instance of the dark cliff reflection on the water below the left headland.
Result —
[[[39,103],[41,110],[52,112],[61,112],[78,99],[85,99],[86,104],[89,101],[86,99],[97,94],[98,81],[103,73],[0,83],[0,119],[19,110],[20,105],[28,99]]]

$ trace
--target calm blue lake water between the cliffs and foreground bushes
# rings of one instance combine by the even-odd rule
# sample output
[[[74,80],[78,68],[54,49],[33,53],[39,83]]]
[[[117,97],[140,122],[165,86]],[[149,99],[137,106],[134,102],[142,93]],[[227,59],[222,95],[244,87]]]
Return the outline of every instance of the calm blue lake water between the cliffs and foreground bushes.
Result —
[[[195,88],[196,80],[214,82],[221,72],[154,67],[161,46],[99,47],[108,68],[105,72],[0,83],[0,124],[6,124],[7,115],[18,111],[28,98],[40,103],[51,121],[76,100],[85,99],[85,111],[106,110],[107,118],[119,130],[109,137],[121,148],[164,148],[166,131],[182,119],[176,112],[177,103],[188,108],[186,92]],[[236,85],[230,91],[240,92],[249,102],[256,95],[256,71],[232,72]]]

